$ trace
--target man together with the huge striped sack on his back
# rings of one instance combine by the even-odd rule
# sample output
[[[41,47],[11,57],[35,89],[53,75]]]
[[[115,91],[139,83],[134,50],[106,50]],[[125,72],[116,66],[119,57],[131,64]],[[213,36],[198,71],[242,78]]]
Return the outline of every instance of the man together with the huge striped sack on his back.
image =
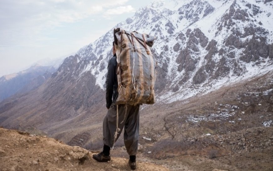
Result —
[[[113,147],[124,127],[129,165],[136,169],[139,137],[139,105],[154,103],[156,60],[151,46],[154,37],[114,29],[113,57],[106,77],[107,115],[103,121],[103,151],[93,155],[99,162],[111,160]],[[112,99],[113,98],[113,99]]]

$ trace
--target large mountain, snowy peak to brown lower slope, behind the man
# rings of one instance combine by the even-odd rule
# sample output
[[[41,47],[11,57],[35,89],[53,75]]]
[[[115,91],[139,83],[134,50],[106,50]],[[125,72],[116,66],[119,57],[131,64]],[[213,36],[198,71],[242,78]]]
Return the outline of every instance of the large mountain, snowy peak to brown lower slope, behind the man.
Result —
[[[157,36],[156,94],[162,105],[271,71],[271,11],[267,1],[169,0],[140,8],[115,27]],[[98,142],[112,41],[110,30],[67,57],[42,86],[2,102],[0,124],[34,126],[65,142],[88,133],[93,139],[83,145]]]

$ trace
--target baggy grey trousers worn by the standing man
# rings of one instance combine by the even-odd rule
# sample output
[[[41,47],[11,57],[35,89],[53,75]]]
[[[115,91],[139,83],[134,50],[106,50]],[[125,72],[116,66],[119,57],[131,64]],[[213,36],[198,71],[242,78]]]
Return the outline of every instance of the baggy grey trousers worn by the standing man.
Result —
[[[139,137],[139,104],[136,106],[125,106],[124,104],[120,104],[118,105],[118,112],[118,127],[120,128],[120,131],[118,132],[116,140],[119,138],[120,133],[124,127],[124,144],[127,153],[130,156],[136,155]],[[114,145],[116,120],[116,106],[111,104],[110,108],[108,109],[107,115],[103,120],[103,142],[109,147],[113,147]]]

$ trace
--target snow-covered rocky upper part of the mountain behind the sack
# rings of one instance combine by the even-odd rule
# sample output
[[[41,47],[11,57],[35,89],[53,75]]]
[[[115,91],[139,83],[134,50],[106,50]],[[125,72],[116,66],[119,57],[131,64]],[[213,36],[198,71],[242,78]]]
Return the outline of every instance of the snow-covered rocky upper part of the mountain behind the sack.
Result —
[[[169,0],[115,28],[157,37],[158,97],[171,102],[272,70],[272,12],[268,0]],[[110,30],[77,52],[81,74],[91,72],[102,89],[112,41]]]

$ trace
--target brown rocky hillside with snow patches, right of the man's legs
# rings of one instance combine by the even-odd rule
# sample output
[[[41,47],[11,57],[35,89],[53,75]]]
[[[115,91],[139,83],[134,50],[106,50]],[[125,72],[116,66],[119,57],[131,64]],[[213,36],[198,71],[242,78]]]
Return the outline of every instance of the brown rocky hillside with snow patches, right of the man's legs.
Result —
[[[144,161],[170,170],[273,170],[272,72],[161,106],[144,109],[156,123],[142,125]]]

